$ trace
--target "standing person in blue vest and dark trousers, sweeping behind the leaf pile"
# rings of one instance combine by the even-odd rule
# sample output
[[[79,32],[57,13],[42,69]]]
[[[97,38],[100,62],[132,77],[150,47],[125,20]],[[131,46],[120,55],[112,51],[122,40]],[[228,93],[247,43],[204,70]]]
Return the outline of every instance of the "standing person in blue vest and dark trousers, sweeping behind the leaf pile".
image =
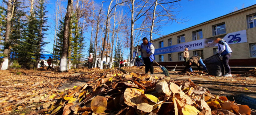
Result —
[[[138,46],[138,50],[142,53],[141,56],[145,64],[145,73],[147,74],[148,71],[150,71],[150,75],[154,75],[154,45],[148,42],[146,37],[144,37],[142,41],[143,43],[141,44],[141,46]],[[151,57],[152,59],[149,57]]]

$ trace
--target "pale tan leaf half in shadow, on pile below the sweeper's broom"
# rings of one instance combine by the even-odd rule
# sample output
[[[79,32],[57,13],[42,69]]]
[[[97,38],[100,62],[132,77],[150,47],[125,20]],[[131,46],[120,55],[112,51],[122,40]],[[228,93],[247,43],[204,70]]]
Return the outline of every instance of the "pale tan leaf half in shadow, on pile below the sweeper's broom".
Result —
[[[158,93],[165,93],[166,95],[171,95],[171,90],[169,89],[166,81],[157,83],[155,86],[155,90]]]

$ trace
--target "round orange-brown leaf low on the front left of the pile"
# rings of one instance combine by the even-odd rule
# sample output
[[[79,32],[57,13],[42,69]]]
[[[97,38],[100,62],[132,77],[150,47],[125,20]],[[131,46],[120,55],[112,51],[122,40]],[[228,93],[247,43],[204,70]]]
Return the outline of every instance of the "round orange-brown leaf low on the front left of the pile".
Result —
[[[102,114],[107,109],[107,99],[102,96],[96,96],[92,99],[91,108],[94,113]]]

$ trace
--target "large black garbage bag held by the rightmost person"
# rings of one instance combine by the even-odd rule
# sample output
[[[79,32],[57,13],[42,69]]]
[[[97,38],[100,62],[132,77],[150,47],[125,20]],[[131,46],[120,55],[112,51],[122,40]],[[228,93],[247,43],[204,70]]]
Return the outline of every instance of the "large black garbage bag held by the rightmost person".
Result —
[[[217,55],[205,59],[205,66],[210,75],[222,76],[225,74],[223,63]]]

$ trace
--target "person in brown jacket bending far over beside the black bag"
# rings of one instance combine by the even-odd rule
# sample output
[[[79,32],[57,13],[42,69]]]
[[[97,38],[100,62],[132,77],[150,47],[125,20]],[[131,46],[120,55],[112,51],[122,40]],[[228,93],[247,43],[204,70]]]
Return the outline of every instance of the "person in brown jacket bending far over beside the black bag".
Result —
[[[192,56],[185,63],[186,67],[183,70],[183,72],[186,72],[187,69],[189,69],[190,72],[192,72],[193,70],[192,70],[191,66],[196,66],[196,67],[198,67],[199,70],[202,71],[200,65],[203,66],[203,69],[207,71],[207,68],[206,68],[205,64],[203,63],[203,60],[201,59],[201,57],[199,57],[199,56]]]

